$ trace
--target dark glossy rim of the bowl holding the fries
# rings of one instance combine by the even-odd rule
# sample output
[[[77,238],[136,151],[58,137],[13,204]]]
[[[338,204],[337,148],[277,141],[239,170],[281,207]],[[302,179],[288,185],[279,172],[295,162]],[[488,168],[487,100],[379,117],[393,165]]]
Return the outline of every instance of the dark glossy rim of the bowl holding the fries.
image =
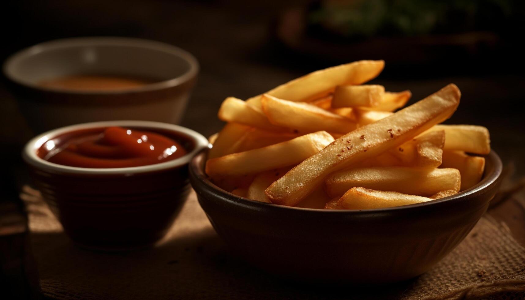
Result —
[[[498,154],[494,150],[490,150],[490,153],[481,156],[484,157],[486,160],[489,160],[490,163],[493,165],[492,171],[490,173],[484,173],[484,177],[482,177],[481,181],[474,185],[474,187],[471,187],[465,191],[458,192],[454,195],[450,195],[444,198],[422,202],[422,203],[415,203],[415,204],[409,204],[409,205],[401,205],[401,206],[393,206],[391,208],[379,208],[379,209],[365,209],[365,210],[328,210],[328,209],[310,209],[310,208],[298,208],[295,206],[286,206],[286,205],[279,205],[279,204],[273,204],[273,203],[265,203],[260,202],[256,200],[251,200],[248,198],[244,198],[235,194],[232,194],[226,190],[223,190],[217,185],[215,185],[213,182],[211,182],[207,175],[204,173],[204,164],[205,164],[205,156],[207,154],[207,151],[201,151],[197,153],[192,161],[190,162],[190,179],[192,186],[194,185],[194,178],[196,181],[198,181],[200,184],[203,184],[205,187],[207,187],[209,190],[212,191],[212,193],[216,193],[218,195],[217,198],[221,200],[225,200],[227,202],[230,202],[233,205],[237,206],[243,206],[247,209],[253,209],[253,210],[277,210],[277,211],[295,211],[298,213],[301,212],[309,212],[309,213],[323,213],[323,214],[338,214],[338,215],[344,215],[344,216],[351,216],[351,215],[364,215],[364,214],[390,214],[394,212],[407,212],[412,211],[416,209],[421,208],[428,208],[429,206],[437,205],[437,204],[445,204],[452,202],[454,200],[460,200],[460,199],[466,199],[470,198],[470,196],[474,196],[475,194],[482,194],[485,192],[485,190],[490,187],[491,185],[495,184],[501,175],[502,172],[502,162]],[[202,162],[202,166],[199,165]],[[193,187],[197,193],[199,193],[198,188]],[[200,200],[199,200],[200,201]],[[290,213],[292,213],[290,212]]]

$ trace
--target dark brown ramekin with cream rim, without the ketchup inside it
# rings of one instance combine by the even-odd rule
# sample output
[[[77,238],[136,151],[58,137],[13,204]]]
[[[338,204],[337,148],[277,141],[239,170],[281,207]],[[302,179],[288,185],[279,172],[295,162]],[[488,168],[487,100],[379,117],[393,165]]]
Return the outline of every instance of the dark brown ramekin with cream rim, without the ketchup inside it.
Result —
[[[183,157],[141,167],[91,169],[48,162],[37,155],[47,141],[84,129],[121,126],[162,133],[187,150]],[[127,250],[152,244],[167,232],[187,193],[188,163],[208,147],[199,133],[151,121],[83,123],[30,140],[23,157],[34,182],[76,244],[100,250]]]

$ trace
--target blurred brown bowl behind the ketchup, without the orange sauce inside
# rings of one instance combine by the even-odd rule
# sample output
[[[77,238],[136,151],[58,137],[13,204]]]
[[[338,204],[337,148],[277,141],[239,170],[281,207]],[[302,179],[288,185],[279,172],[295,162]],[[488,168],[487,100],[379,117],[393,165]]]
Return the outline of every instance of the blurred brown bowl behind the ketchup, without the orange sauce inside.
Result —
[[[58,39],[20,50],[4,63],[20,110],[35,133],[82,122],[179,123],[198,62],[172,45],[122,37]],[[148,79],[140,86],[81,90],[42,85],[67,76]]]

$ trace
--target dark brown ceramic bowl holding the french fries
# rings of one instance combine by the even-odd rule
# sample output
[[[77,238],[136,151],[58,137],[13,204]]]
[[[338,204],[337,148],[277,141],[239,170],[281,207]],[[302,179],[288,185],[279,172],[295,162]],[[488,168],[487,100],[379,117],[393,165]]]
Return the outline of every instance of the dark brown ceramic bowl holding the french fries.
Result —
[[[293,280],[384,283],[429,270],[461,242],[499,187],[501,160],[486,157],[483,179],[453,196],[373,210],[318,210],[261,203],[228,193],[204,173],[190,181],[217,233],[235,255]]]

